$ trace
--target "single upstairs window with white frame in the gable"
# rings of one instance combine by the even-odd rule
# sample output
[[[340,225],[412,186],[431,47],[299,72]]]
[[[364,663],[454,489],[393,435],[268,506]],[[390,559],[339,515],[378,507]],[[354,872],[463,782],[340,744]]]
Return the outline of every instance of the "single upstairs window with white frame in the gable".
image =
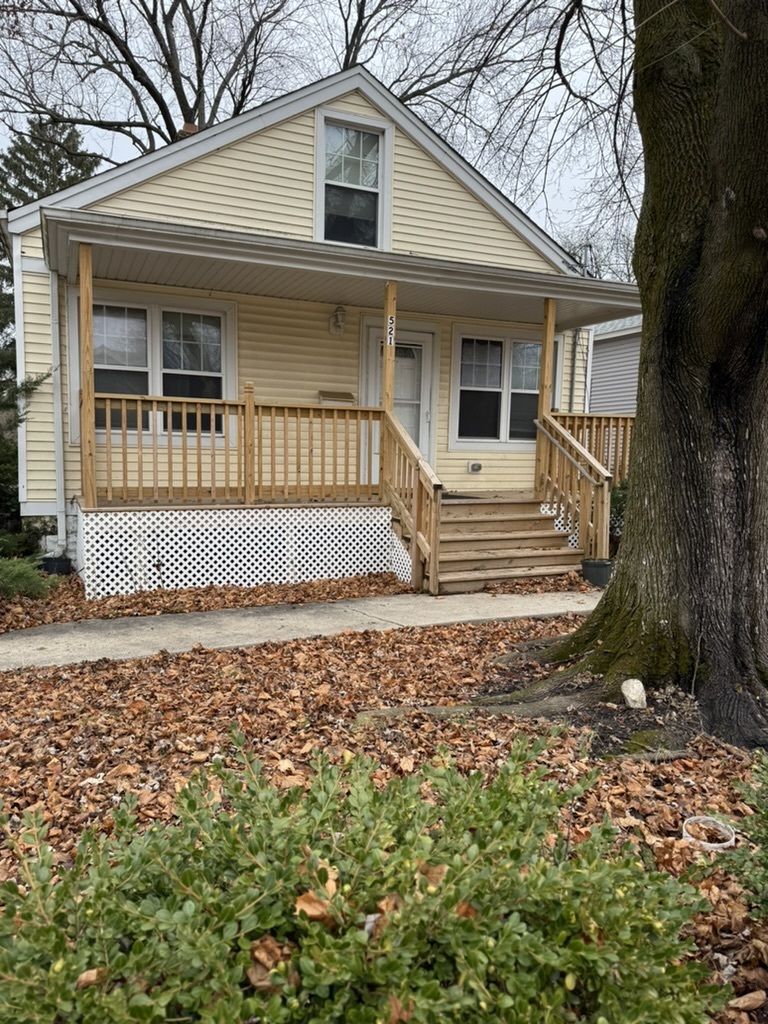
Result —
[[[316,238],[351,246],[388,245],[387,157],[391,126],[318,112]]]

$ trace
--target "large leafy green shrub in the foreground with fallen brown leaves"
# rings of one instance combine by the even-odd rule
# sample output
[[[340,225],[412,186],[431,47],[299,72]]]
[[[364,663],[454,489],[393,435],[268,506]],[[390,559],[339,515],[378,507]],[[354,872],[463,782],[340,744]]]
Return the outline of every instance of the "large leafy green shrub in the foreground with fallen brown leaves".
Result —
[[[28,819],[23,887],[0,887],[0,1020],[703,1024],[717,996],[679,941],[694,891],[607,825],[561,835],[585,787],[532,770],[541,750],[486,787],[437,764],[380,790],[370,762],[319,761],[307,793],[242,758],[172,825],[119,809],[55,884]]]

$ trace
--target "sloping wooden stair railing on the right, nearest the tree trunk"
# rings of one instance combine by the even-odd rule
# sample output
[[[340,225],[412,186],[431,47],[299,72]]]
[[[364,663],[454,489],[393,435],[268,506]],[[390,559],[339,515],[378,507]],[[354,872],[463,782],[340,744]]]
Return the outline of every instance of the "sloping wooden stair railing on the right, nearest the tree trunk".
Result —
[[[611,475],[553,416],[536,421],[542,445],[537,498],[554,506],[587,558],[608,557]]]

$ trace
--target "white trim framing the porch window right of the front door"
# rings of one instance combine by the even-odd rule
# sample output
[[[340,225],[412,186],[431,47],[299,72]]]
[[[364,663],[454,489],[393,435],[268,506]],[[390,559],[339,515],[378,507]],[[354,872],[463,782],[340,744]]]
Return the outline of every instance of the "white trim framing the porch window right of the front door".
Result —
[[[511,379],[511,358],[512,342],[535,342],[542,343],[540,331],[525,330],[504,330],[503,328],[488,328],[481,324],[455,324],[454,337],[451,349],[451,416],[449,433],[449,452],[534,452],[536,451],[536,440],[534,438],[518,438],[515,440],[493,440],[489,438],[460,438],[459,437],[459,396],[461,382],[461,350],[463,338],[481,338],[483,341],[501,341],[504,344],[502,362],[502,408],[500,413],[501,423],[509,423],[509,400],[511,389],[509,382]],[[559,389],[560,361],[563,348],[562,338],[558,337],[558,372],[556,374],[554,391]],[[522,392],[534,394],[537,392]]]

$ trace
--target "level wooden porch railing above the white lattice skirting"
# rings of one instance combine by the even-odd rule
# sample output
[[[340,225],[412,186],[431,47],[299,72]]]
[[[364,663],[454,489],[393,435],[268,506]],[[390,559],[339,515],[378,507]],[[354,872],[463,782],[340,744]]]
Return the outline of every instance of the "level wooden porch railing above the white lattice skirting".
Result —
[[[237,401],[96,394],[97,501],[373,501],[381,418],[364,407],[256,404],[248,387]]]

